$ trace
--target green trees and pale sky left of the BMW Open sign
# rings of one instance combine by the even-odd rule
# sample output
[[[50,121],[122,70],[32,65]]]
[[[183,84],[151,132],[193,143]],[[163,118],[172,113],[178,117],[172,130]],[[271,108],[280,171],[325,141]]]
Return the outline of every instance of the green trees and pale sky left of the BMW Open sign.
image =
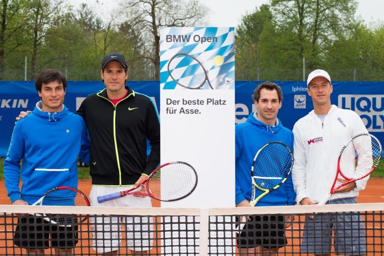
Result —
[[[57,68],[69,80],[99,80],[108,52],[122,52],[130,80],[159,79],[159,29],[204,25],[198,0],[130,0],[100,17],[90,5],[65,0],[0,0],[0,80],[28,80]],[[97,2],[99,8],[102,4]]]

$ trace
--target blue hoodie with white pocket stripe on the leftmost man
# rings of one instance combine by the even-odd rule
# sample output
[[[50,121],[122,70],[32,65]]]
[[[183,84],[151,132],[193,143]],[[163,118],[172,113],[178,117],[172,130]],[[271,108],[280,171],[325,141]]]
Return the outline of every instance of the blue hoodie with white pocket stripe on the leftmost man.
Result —
[[[42,112],[40,104],[13,129],[4,161],[5,186],[12,203],[22,199],[31,205],[54,187],[76,188],[77,157],[87,164],[90,161],[90,141],[82,117],[64,105],[60,112]]]

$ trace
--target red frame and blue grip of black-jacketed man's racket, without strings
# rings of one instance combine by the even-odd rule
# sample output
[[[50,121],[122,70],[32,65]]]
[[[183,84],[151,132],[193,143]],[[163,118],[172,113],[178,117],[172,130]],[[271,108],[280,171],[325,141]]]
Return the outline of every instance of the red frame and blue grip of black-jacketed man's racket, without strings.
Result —
[[[196,182],[195,182],[195,185],[194,187],[188,192],[186,193],[185,195],[181,196],[180,198],[177,198],[177,199],[172,199],[172,200],[162,200],[162,199],[159,199],[157,198],[155,195],[153,195],[152,193],[150,193],[150,188],[149,188],[149,182],[152,178],[153,175],[155,175],[155,173],[160,170],[161,168],[167,166],[167,165],[170,165],[170,164],[184,164],[184,165],[187,165],[189,166],[195,173],[195,176],[196,176]],[[147,176],[147,178],[142,181],[136,188],[131,188],[131,189],[128,189],[128,190],[123,190],[123,191],[119,191],[119,192],[115,192],[115,193],[111,193],[111,194],[106,194],[106,195],[101,195],[101,196],[97,196],[97,202],[98,203],[102,203],[102,202],[105,202],[105,201],[110,201],[110,200],[114,200],[114,199],[118,199],[118,198],[122,198],[123,196],[125,195],[129,195],[129,194],[136,194],[136,195],[145,195],[145,196],[150,196],[151,198],[153,199],[156,199],[156,200],[159,200],[159,201],[162,201],[162,202],[173,202],[173,201],[178,201],[178,200],[181,200],[183,198],[186,198],[188,195],[190,195],[195,189],[196,189],[196,186],[197,186],[197,182],[198,182],[198,176],[197,176],[197,172],[195,170],[195,168],[193,166],[191,166],[190,164],[188,163],[185,163],[185,162],[181,162],[181,161],[175,161],[175,162],[169,162],[169,163],[166,163],[166,164],[163,164],[163,165],[160,165],[159,167],[157,167],[155,170],[153,170],[151,172],[150,175]],[[148,193],[143,193],[143,192],[131,192],[137,188],[139,188],[140,186],[142,186],[143,184],[145,183],[145,189]]]

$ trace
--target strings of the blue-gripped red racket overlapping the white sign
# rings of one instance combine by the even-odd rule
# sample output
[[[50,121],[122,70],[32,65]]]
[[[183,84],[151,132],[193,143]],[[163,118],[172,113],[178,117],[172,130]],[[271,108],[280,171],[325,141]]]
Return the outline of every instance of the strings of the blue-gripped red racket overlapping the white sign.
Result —
[[[189,194],[196,182],[196,172],[191,166],[185,163],[170,163],[151,177],[148,190],[157,199],[173,201]]]

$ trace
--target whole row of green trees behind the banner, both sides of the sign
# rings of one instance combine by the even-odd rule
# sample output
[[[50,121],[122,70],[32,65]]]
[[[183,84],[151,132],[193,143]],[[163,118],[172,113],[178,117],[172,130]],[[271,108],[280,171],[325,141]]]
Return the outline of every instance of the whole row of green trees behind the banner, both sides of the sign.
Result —
[[[98,8],[107,2],[96,1]],[[0,80],[33,80],[57,68],[69,80],[99,80],[105,53],[122,52],[129,80],[159,79],[159,30],[207,25],[201,0],[120,0],[101,16],[66,0],[0,0]],[[384,80],[384,24],[356,18],[355,0],[271,0],[236,29],[237,80]],[[105,13],[104,13],[105,14]]]

